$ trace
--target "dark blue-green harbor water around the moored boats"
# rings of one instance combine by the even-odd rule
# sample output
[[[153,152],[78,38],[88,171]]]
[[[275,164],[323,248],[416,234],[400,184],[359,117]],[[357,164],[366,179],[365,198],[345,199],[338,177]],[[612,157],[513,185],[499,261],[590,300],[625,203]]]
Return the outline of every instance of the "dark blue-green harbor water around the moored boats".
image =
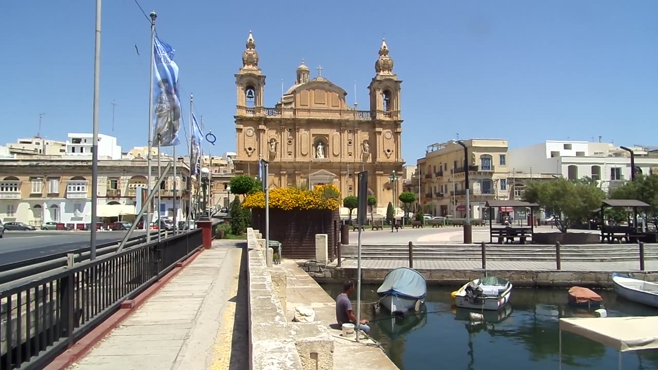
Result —
[[[325,284],[332,297],[342,284]],[[594,317],[594,311],[567,305],[565,289],[514,288],[511,304],[502,311],[457,309],[450,298],[455,288],[428,286],[423,314],[391,318],[377,313],[378,285],[364,285],[361,317],[370,319],[370,336],[380,342],[395,365],[423,369],[558,368],[560,317]],[[609,317],[658,315],[658,309],[597,290]],[[356,293],[350,297],[356,307]],[[484,322],[473,323],[470,313]],[[478,316],[478,315],[474,315]],[[658,333],[658,328],[656,328]],[[618,352],[592,340],[563,332],[562,369],[617,369]],[[658,369],[658,351],[622,354],[623,369]]]

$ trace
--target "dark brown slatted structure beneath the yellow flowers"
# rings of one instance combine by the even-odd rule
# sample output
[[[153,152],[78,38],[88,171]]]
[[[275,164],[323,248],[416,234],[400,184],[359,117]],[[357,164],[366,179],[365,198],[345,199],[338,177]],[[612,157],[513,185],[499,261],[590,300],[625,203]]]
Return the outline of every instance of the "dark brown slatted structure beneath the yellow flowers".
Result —
[[[251,225],[265,230],[265,209],[251,210]],[[340,242],[338,211],[270,209],[270,240],[281,242],[284,257],[315,258],[316,234],[327,234],[328,257],[333,260]]]

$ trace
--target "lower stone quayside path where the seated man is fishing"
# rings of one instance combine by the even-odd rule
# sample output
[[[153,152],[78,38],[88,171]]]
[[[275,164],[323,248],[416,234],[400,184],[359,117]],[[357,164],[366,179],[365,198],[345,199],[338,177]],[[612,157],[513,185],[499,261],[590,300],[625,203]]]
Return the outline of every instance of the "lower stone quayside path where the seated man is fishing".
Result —
[[[361,343],[354,338],[341,336],[341,330],[330,325],[336,323],[336,302],[318,283],[305,273],[292,260],[282,261],[286,269],[286,317],[292,319],[295,307],[311,306],[315,310],[315,321],[321,321],[334,338],[334,369],[378,369],[397,370],[397,366],[375,342],[361,337]],[[353,298],[354,299],[354,298]],[[353,307],[356,307],[355,305]]]

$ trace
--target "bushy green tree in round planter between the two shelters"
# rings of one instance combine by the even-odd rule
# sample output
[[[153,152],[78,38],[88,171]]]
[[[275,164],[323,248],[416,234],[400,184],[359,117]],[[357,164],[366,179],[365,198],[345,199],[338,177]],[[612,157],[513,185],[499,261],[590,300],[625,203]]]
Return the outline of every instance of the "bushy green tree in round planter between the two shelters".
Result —
[[[603,190],[593,184],[565,178],[555,181],[530,182],[523,193],[525,201],[537,203],[555,219],[555,226],[567,232],[569,226],[588,220],[605,198]]]

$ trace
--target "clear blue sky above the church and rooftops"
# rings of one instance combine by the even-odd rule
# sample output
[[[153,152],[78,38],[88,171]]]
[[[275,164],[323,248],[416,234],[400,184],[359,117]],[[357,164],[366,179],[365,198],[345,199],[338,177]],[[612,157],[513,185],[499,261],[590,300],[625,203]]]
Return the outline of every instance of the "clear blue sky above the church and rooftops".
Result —
[[[403,157],[460,138],[656,145],[658,1],[172,1],[157,11],[176,49],[184,100],[235,148],[234,74],[249,30],[267,76],[266,106],[305,59],[367,109],[383,36],[403,80]],[[38,131],[91,132],[94,1],[9,1],[0,12],[0,145]],[[149,22],[134,0],[103,3],[100,131],[147,144]],[[141,56],[135,51],[138,46]],[[112,132],[112,101],[116,101]],[[188,107],[185,107],[185,111]],[[649,134],[651,133],[651,134]],[[206,145],[206,150],[209,145]],[[186,150],[185,145],[180,147]]]

